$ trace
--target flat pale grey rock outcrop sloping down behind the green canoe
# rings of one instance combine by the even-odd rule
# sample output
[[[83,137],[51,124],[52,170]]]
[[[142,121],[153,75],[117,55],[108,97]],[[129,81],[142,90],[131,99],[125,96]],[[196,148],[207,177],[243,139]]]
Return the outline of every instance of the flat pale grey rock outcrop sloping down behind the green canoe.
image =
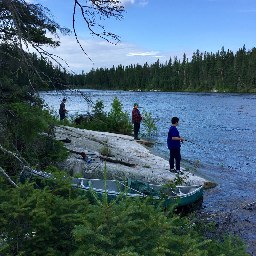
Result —
[[[60,168],[70,175],[82,174],[84,178],[102,179],[104,173],[104,160],[87,164],[79,153],[92,151],[96,155],[102,156],[100,151],[104,145],[104,140],[108,139],[108,147],[111,150],[112,159],[106,161],[107,179],[123,180],[125,178],[143,180],[153,184],[164,184],[167,180],[173,180],[176,176],[169,172],[169,162],[155,156],[143,146],[146,141],[136,141],[128,135],[98,132],[79,129],[69,126],[57,126],[56,139],[70,139],[70,143],[65,143],[65,147],[72,153],[68,159],[61,163]],[[106,156],[102,156],[105,157]],[[112,162],[113,161],[113,162]],[[119,162],[119,163],[115,163]],[[128,163],[130,166],[126,166]],[[150,168],[149,168],[150,167]],[[185,174],[188,172],[184,171]],[[183,175],[182,175],[183,176]],[[186,179],[188,185],[203,185],[206,180],[196,174],[190,173]]]

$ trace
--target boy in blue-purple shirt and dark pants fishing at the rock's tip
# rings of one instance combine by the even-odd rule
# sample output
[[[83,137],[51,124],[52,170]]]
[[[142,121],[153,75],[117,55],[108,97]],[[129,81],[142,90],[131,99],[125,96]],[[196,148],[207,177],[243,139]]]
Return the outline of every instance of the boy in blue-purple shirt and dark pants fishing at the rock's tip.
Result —
[[[184,174],[180,171],[180,141],[184,143],[184,139],[180,136],[179,131],[177,130],[177,126],[179,124],[179,118],[178,117],[172,117],[172,126],[169,129],[168,137],[167,137],[167,146],[170,150],[170,172],[174,172],[177,174]],[[174,159],[175,159],[175,165],[176,170],[174,169]]]

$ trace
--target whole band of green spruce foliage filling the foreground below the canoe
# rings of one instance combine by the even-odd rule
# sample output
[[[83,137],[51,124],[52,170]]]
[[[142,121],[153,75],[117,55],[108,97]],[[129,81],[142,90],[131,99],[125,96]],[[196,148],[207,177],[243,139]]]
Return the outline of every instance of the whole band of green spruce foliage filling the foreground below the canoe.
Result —
[[[53,166],[46,171],[53,175],[42,180],[43,186],[27,179],[11,188],[0,176],[1,255],[247,255],[241,238],[230,234],[211,241],[204,232],[212,231],[212,223],[181,218],[173,205],[163,211],[149,196],[128,198],[125,191],[110,201],[92,184],[94,204],[89,204],[63,179],[65,173]]]

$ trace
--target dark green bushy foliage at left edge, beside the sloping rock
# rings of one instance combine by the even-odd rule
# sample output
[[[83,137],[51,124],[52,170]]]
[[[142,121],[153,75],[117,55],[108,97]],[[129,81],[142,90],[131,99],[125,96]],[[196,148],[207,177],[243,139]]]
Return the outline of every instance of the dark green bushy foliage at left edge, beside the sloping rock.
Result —
[[[5,117],[4,132],[0,133],[0,144],[4,148],[18,153],[40,169],[58,164],[68,156],[64,144],[55,140],[55,120],[50,115],[51,110],[49,113],[38,105],[21,102],[5,104],[4,107],[13,113]],[[48,135],[43,134],[47,131]],[[1,167],[11,176],[19,172],[20,163],[17,164],[18,160],[13,156],[0,154],[0,161]]]

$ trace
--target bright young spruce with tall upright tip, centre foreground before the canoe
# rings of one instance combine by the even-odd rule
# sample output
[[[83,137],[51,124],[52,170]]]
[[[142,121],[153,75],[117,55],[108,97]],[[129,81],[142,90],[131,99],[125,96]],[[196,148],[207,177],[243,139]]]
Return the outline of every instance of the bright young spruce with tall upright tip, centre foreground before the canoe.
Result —
[[[106,192],[100,198],[92,184],[90,190],[95,204],[88,206],[84,223],[73,229],[75,255],[207,255],[204,245],[210,240],[174,224],[179,220],[178,215],[170,217],[174,206],[163,213],[161,204],[149,204],[150,197],[123,198],[121,193],[109,202]]]

